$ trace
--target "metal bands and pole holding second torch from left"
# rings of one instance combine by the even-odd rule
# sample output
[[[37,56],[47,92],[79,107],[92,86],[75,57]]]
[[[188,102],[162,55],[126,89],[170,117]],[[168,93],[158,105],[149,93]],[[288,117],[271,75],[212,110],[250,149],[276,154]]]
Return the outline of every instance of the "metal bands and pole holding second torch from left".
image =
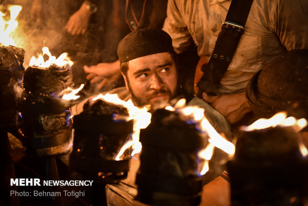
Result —
[[[20,135],[20,140],[23,146],[27,148],[26,155],[42,158],[44,163],[44,180],[60,180],[59,173],[58,173],[58,165],[56,161],[56,155],[62,155],[64,153],[68,153],[70,151],[70,147],[68,146],[67,151],[61,151],[58,153],[54,152],[38,152],[44,151],[49,148],[54,147],[61,147],[63,145],[69,145],[70,141],[73,138],[72,132],[72,120],[70,120],[70,125],[68,125],[67,130],[63,133],[51,133],[48,135],[38,136],[35,137],[35,129],[36,126],[40,124],[37,121],[37,116],[44,114],[44,115],[54,115],[54,114],[62,114],[64,112],[69,113],[69,108],[71,107],[72,102],[63,102],[54,100],[48,103],[25,103],[19,102],[18,103],[18,112],[21,113],[21,118],[23,123],[21,125],[25,128],[31,127],[26,133],[22,133]],[[25,119],[26,116],[26,119]],[[45,188],[46,191],[50,192],[61,192],[60,187],[47,187]],[[63,198],[62,197],[46,197],[44,199],[44,203],[51,205],[51,206],[62,206],[63,205]]]

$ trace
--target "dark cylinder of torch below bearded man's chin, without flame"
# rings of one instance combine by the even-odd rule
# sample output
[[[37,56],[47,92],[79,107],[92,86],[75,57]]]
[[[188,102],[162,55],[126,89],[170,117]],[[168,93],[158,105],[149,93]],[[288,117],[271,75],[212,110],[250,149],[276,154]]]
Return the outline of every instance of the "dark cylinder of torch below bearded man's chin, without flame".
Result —
[[[204,185],[197,153],[204,138],[173,111],[156,110],[140,133],[137,200],[158,206],[197,206]]]

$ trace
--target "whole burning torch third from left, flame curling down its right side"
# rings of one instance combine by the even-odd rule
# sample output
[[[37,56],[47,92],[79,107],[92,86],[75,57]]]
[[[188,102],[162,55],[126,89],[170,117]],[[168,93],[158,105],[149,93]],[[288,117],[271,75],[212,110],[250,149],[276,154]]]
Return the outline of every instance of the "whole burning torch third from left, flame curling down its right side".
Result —
[[[106,94],[85,103],[83,112],[73,119],[72,176],[94,180],[92,205],[106,205],[105,185],[127,177],[131,157],[141,150],[140,128],[150,123],[151,114]]]

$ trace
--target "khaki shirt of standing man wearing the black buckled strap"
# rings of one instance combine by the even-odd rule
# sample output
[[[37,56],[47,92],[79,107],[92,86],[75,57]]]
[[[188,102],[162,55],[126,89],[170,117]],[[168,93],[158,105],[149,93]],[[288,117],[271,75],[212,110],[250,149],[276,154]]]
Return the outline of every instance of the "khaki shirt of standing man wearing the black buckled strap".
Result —
[[[177,53],[194,42],[199,56],[210,56],[231,0],[168,0],[163,30]],[[231,64],[221,81],[222,94],[243,92],[263,65],[286,50],[308,48],[307,0],[254,0]]]

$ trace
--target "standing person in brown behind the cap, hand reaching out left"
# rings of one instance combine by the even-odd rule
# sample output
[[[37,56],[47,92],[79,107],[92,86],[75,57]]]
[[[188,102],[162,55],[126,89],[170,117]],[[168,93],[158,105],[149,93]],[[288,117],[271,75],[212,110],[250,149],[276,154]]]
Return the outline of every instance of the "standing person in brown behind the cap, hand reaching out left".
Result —
[[[111,24],[108,26],[109,44],[105,46],[107,51],[114,54],[114,58],[112,61],[84,66],[84,71],[88,74],[86,79],[91,83],[98,83],[98,89],[122,80],[120,62],[116,55],[118,43],[126,34],[138,28],[161,28],[166,17],[166,7],[167,0],[113,0]]]

